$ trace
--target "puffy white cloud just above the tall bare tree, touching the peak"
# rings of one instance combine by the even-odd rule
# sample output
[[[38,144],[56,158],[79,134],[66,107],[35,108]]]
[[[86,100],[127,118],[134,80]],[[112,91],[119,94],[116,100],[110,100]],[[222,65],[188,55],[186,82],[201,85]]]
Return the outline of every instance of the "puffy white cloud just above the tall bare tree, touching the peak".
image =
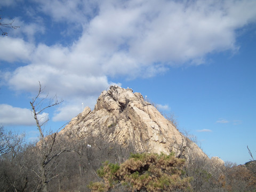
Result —
[[[71,73],[49,65],[19,67],[10,77],[9,85],[14,90],[33,92],[38,90],[38,81],[46,87],[46,93],[57,94],[64,99],[98,95],[109,86],[106,76]]]

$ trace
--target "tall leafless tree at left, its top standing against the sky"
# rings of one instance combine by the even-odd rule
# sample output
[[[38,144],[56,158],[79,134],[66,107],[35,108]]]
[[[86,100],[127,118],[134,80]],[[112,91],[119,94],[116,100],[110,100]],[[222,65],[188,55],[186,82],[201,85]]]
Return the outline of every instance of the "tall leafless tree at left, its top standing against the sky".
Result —
[[[68,149],[68,144],[65,141],[65,139],[60,138],[60,135],[57,137],[57,132],[54,132],[50,135],[45,136],[43,132],[42,126],[49,121],[49,119],[46,119],[44,122],[42,121],[42,115],[43,112],[53,106],[59,105],[62,100],[59,102],[57,97],[55,97],[55,101],[50,99],[50,102],[48,105],[43,107],[44,101],[47,98],[47,96],[43,99],[41,99],[42,94],[42,86],[39,82],[39,91],[37,96],[30,101],[31,109],[34,114],[34,118],[36,121],[37,129],[40,133],[39,135],[39,142],[37,143],[37,147],[39,148],[39,165],[38,167],[34,167],[33,171],[37,175],[38,178],[41,180],[41,187],[40,189],[43,192],[48,191],[47,189],[47,183],[49,183],[53,178],[58,177],[57,175],[53,175],[52,172],[57,167],[56,158],[59,157],[63,152],[70,151],[71,149]]]

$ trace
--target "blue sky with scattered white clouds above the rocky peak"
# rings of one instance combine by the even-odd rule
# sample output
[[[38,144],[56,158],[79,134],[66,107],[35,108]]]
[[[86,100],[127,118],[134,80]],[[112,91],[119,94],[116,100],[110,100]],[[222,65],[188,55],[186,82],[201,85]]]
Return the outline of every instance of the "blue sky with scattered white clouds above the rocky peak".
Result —
[[[38,133],[38,81],[61,105],[45,131],[93,109],[110,84],[173,114],[179,129],[224,161],[256,156],[256,1],[1,1],[0,123]],[[44,96],[44,95],[42,95]],[[193,136],[194,135],[194,136]]]

